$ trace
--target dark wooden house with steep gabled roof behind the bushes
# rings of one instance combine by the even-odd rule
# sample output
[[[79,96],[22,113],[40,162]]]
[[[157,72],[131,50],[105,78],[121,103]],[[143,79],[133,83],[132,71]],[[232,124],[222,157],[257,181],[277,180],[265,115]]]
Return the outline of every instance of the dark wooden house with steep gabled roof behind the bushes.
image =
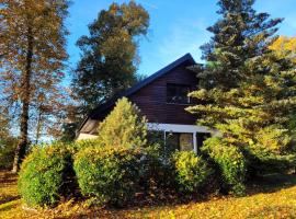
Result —
[[[160,131],[169,145],[181,150],[197,152],[205,137],[213,134],[206,127],[197,126],[197,117],[185,108],[194,104],[187,94],[196,90],[196,72],[187,67],[196,65],[190,54],[151,74],[126,92],[94,108],[82,123],[78,140],[95,138],[98,125],[113,110],[116,101],[126,96],[135,103],[148,119],[150,130]],[[100,131],[100,130],[99,130]]]

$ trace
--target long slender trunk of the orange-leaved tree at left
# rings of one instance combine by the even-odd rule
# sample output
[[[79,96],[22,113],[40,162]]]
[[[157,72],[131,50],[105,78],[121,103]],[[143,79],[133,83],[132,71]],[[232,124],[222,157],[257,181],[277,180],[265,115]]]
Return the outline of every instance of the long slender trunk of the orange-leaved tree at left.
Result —
[[[29,127],[29,110],[30,110],[30,95],[31,95],[31,74],[32,74],[32,60],[33,60],[33,35],[32,27],[29,24],[27,27],[27,53],[26,53],[26,66],[22,77],[22,113],[21,113],[21,136],[20,142],[15,149],[14,161],[12,172],[16,173],[20,170],[20,165],[25,157],[27,148],[27,127]]]

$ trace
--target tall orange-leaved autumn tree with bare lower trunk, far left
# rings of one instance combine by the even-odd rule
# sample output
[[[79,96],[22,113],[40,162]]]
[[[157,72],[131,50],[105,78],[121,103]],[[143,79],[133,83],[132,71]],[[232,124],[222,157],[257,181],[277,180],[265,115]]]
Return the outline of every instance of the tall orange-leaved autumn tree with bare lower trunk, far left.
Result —
[[[27,143],[30,116],[34,100],[44,89],[45,100],[62,78],[65,68],[65,19],[67,0],[1,0],[0,59],[1,88],[10,103],[21,105],[20,143],[13,171],[19,170]]]

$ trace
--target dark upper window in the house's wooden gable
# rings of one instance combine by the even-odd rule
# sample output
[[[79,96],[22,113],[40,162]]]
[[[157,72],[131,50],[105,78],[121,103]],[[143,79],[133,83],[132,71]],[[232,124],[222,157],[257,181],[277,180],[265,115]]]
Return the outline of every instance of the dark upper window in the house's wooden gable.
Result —
[[[190,97],[189,85],[167,84],[167,103],[189,104]]]

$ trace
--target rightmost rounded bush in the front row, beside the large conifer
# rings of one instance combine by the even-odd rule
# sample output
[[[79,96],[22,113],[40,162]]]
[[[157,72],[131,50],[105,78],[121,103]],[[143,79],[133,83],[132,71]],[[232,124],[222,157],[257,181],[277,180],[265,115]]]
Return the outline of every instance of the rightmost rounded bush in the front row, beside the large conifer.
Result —
[[[242,152],[217,137],[205,140],[202,152],[216,164],[221,175],[221,187],[235,195],[243,195],[247,165]]]

